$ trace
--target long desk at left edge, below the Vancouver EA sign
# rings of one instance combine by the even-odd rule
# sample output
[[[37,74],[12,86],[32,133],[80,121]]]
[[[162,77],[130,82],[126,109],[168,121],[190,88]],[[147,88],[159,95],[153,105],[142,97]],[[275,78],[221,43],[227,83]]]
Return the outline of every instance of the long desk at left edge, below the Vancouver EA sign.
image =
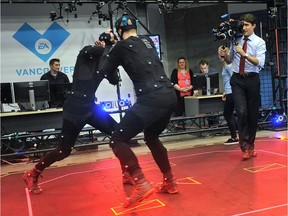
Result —
[[[1,113],[1,135],[62,128],[63,109]]]

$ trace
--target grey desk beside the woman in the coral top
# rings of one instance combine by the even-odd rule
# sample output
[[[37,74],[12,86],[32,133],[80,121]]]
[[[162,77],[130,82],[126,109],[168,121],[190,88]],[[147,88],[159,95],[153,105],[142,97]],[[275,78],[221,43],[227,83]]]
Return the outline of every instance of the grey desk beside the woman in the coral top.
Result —
[[[187,96],[184,98],[186,116],[195,116],[224,110],[222,95]]]

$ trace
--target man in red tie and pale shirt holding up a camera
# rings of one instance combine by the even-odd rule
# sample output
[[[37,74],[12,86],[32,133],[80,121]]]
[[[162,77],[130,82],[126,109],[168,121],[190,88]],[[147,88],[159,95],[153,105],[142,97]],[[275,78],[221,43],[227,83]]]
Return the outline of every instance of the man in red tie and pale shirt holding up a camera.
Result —
[[[254,15],[244,14],[240,20],[243,24],[243,36],[231,43],[229,52],[223,47],[218,50],[218,54],[228,64],[233,63],[230,84],[238,116],[242,160],[247,160],[257,156],[254,141],[260,106],[259,71],[264,66],[266,44],[254,33]]]

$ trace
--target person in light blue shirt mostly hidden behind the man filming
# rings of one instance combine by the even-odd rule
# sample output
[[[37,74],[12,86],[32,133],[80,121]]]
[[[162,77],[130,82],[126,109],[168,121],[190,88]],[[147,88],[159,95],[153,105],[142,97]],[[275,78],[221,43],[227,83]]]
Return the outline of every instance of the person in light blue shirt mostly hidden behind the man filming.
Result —
[[[220,47],[219,49],[222,49]],[[228,47],[226,49],[229,50]],[[222,69],[222,79],[223,79],[223,84],[224,84],[224,92],[222,95],[222,100],[225,102],[224,103],[224,118],[228,124],[228,128],[230,131],[231,138],[229,138],[226,142],[224,142],[224,145],[233,145],[233,144],[238,144],[239,140],[237,138],[237,121],[236,118],[233,114],[234,112],[234,100],[233,100],[233,95],[232,95],[232,88],[230,85],[230,79],[233,75],[232,71],[232,64],[227,64],[224,61],[224,58],[219,56],[220,61],[223,63],[223,69]]]

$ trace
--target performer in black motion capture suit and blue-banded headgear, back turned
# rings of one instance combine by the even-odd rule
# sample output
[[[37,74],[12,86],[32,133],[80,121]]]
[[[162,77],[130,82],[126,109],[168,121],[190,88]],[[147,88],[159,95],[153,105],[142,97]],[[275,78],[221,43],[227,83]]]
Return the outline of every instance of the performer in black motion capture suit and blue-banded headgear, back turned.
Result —
[[[115,71],[122,65],[133,82],[136,103],[126,112],[110,139],[110,146],[119,159],[122,170],[134,181],[132,193],[124,207],[133,207],[154,191],[178,193],[166,148],[159,139],[177,105],[176,94],[167,78],[153,41],[137,35],[137,21],[123,15],[116,21],[116,30],[121,38],[111,49],[100,67],[100,73],[115,84]],[[163,182],[155,188],[146,180],[138,159],[128,143],[144,130],[145,142],[163,174]]]

